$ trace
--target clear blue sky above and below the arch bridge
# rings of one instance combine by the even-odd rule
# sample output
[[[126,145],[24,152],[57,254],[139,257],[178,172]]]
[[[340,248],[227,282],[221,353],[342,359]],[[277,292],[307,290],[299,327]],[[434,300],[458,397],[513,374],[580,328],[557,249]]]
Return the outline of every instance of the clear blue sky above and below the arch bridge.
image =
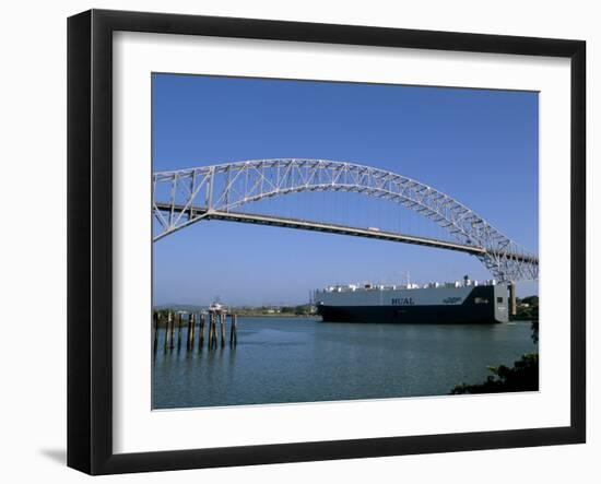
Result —
[[[537,93],[172,74],[152,82],[153,172],[276,157],[356,162],[437,188],[538,251]],[[270,203],[295,214],[380,210],[345,196]],[[419,231],[417,219],[403,220]],[[424,235],[436,231],[423,223]],[[300,304],[331,283],[391,283],[405,272],[415,282],[491,278],[463,253],[216,221],[155,243],[153,269],[154,304]],[[533,293],[534,283],[518,286]]]

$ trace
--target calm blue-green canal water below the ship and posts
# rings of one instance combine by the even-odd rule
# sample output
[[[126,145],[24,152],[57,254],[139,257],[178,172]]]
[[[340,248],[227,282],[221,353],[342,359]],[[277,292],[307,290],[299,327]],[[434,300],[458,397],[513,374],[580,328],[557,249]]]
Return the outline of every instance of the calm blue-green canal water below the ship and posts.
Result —
[[[238,318],[238,344],[153,356],[153,409],[439,396],[538,351],[529,322],[327,323]],[[226,343],[229,341],[227,324]],[[204,342],[207,345],[207,340]]]

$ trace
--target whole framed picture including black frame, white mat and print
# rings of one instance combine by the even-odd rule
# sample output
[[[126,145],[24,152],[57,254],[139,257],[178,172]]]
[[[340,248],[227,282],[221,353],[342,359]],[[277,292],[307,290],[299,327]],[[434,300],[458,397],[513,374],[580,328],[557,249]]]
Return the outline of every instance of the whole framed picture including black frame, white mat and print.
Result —
[[[67,181],[69,467],[586,441],[585,42],[82,12]]]

